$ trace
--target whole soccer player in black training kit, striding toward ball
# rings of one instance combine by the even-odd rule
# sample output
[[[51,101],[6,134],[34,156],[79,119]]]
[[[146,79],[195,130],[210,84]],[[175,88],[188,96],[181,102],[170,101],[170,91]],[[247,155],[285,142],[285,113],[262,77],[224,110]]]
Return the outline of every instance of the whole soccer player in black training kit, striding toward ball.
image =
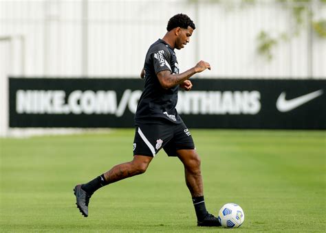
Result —
[[[144,173],[163,148],[168,156],[176,156],[184,164],[186,185],[193,198],[197,225],[221,225],[219,219],[206,210],[201,160],[191,132],[175,109],[179,88],[191,90],[193,84],[188,79],[195,73],[210,69],[210,64],[200,61],[193,68],[179,73],[174,49],[184,48],[195,24],[186,14],[176,14],[169,20],[166,29],[165,36],[149,47],[140,74],[145,84],[135,113],[133,160],[118,164],[94,180],[74,188],[77,207],[84,217],[88,216],[89,198],[98,188]]]

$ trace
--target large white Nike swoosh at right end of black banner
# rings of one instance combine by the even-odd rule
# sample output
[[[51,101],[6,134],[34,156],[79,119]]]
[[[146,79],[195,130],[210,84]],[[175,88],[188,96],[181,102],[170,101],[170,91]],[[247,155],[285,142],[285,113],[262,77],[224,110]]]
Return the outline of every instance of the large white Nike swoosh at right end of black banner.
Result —
[[[311,101],[312,99],[317,98],[320,95],[323,95],[323,90],[316,90],[313,93],[309,93],[306,95],[301,95],[300,97],[296,97],[294,99],[285,99],[285,92],[281,93],[279,98],[276,101],[276,108],[280,112],[289,112],[294,110],[294,108],[298,108],[298,106],[303,105]]]

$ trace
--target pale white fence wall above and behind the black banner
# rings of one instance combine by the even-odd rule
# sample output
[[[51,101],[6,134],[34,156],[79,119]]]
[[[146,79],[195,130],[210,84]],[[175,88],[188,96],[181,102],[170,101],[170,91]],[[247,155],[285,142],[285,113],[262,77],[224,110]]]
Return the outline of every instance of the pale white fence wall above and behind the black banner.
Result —
[[[257,55],[261,30],[275,37],[293,31],[285,5],[217,2],[0,1],[1,53],[10,60],[10,75],[135,77],[149,45],[164,36],[169,18],[184,12],[197,29],[186,49],[177,51],[183,70],[207,60],[213,69],[204,77],[325,76],[326,42],[309,23],[292,40],[279,42],[270,62]],[[325,15],[325,5],[312,6],[315,16]]]

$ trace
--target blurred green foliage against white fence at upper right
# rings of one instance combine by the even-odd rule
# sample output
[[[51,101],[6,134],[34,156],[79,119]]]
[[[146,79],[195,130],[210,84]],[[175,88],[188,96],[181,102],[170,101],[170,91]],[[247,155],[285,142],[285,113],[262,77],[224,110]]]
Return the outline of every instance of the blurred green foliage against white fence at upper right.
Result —
[[[266,0],[189,0],[191,3],[217,3],[232,11],[233,8],[250,8]],[[281,42],[287,42],[301,34],[303,30],[312,31],[320,39],[326,39],[326,15],[317,16],[321,6],[326,5],[326,0],[270,0],[278,3],[281,10],[287,10],[292,16],[294,28],[291,32],[271,32],[261,29],[257,34],[257,53],[266,60],[273,58],[272,51]],[[275,36],[276,35],[276,36]]]

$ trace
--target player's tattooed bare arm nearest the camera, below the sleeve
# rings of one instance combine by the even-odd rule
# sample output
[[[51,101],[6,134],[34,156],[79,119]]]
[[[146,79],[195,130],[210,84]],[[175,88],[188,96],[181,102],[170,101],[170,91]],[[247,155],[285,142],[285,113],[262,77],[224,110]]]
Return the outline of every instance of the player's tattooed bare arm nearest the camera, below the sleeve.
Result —
[[[177,75],[171,74],[171,71],[169,70],[160,71],[157,73],[157,78],[164,89],[169,89],[182,84],[185,80],[195,75],[195,73],[200,73],[206,69],[210,70],[210,64],[208,62],[200,61],[193,66],[193,68]]]

